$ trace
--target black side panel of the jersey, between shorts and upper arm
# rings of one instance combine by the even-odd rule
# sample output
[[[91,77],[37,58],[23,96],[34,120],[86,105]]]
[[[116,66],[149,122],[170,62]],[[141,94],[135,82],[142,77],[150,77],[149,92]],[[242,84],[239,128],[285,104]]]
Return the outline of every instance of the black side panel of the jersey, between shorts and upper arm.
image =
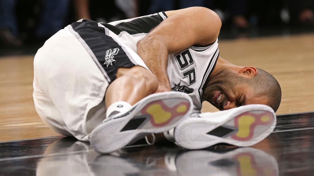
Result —
[[[118,23],[115,26],[107,23],[101,23],[103,26],[111,30],[116,35],[125,31],[131,35],[149,33],[153,28],[158,26],[164,19],[159,15],[152,15],[148,17],[136,18],[132,21]]]

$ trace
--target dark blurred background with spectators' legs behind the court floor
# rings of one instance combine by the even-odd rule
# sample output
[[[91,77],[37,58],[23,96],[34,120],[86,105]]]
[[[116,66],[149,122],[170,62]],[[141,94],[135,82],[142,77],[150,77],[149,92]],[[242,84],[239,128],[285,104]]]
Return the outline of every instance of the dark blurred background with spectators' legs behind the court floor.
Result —
[[[314,31],[314,0],[0,0],[0,55],[35,54],[81,18],[111,22],[192,6],[219,15],[219,39]]]

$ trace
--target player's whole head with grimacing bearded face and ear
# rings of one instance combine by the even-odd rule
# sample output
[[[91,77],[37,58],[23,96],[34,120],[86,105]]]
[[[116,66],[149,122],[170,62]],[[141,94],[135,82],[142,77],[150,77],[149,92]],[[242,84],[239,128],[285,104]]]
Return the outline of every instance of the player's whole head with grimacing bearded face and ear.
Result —
[[[281,101],[281,88],[278,81],[262,69],[247,68],[251,72],[244,70],[245,74],[242,73],[243,70],[238,72],[228,68],[220,69],[208,81],[203,93],[204,100],[219,110],[248,104],[264,104],[276,112]],[[253,76],[247,77],[248,73],[249,75],[252,73]]]

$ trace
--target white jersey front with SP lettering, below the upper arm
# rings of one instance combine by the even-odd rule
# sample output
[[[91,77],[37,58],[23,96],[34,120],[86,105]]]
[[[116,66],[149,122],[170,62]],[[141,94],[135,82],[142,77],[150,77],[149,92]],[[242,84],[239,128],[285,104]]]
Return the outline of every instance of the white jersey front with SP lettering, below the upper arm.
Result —
[[[219,56],[217,41],[206,47],[191,46],[168,56],[167,74],[171,89],[190,95],[195,111],[202,109],[202,88]]]

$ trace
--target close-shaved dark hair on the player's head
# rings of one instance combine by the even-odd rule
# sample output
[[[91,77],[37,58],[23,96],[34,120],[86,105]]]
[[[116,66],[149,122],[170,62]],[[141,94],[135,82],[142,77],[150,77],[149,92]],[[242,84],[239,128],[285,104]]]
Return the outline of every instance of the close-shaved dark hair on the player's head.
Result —
[[[268,98],[268,106],[276,112],[281,102],[281,88],[278,81],[268,72],[258,69],[257,74],[248,81],[255,93]]]

